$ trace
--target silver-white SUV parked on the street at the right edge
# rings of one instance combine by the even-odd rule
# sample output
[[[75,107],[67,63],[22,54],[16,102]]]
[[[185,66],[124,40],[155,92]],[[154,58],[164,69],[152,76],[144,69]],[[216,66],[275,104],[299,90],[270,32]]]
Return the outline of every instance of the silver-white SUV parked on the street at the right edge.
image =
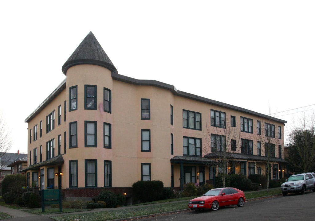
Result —
[[[315,173],[300,173],[290,176],[286,182],[281,184],[283,196],[287,193],[301,192],[305,194],[306,190],[315,192]]]

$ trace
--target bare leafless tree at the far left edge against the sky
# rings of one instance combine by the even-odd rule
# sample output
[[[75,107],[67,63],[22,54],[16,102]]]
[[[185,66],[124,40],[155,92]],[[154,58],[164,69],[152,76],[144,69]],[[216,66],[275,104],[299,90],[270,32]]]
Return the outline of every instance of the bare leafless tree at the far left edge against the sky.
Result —
[[[4,120],[3,114],[0,113],[0,157],[12,147],[13,140],[10,136],[9,128]]]

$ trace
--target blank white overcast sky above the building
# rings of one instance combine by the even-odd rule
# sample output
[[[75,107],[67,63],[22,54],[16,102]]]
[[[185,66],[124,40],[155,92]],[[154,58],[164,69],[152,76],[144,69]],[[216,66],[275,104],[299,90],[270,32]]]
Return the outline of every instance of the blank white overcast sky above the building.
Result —
[[[27,152],[25,119],[65,79],[61,67],[89,31],[119,74],[263,114],[299,108],[272,115],[287,134],[315,109],[314,10],[313,0],[1,1],[10,152]]]

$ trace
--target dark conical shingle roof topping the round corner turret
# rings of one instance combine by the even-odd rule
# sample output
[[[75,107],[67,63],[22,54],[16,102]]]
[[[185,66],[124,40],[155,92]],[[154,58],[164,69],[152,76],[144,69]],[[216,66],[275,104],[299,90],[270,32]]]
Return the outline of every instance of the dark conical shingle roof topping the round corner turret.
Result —
[[[81,44],[62,66],[62,72],[67,75],[68,68],[82,64],[99,65],[117,73],[117,69],[100,46],[92,31],[83,39]]]

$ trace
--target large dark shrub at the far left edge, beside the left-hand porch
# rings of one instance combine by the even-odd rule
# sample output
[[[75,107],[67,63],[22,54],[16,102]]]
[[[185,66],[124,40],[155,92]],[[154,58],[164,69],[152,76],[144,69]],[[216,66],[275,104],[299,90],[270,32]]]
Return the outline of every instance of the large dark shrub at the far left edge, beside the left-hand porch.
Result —
[[[1,194],[11,192],[17,195],[17,197],[22,196],[25,191],[22,186],[26,186],[26,175],[25,174],[10,174],[3,178],[1,182]]]

